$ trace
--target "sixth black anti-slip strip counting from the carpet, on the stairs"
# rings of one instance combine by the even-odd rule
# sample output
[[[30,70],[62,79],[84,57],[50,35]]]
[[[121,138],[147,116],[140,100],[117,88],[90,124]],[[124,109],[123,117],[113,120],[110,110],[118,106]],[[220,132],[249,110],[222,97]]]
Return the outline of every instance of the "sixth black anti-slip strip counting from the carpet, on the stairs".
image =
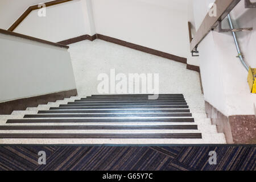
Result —
[[[188,106],[94,106],[94,107],[50,107],[49,110],[63,110],[63,109],[186,109]]]

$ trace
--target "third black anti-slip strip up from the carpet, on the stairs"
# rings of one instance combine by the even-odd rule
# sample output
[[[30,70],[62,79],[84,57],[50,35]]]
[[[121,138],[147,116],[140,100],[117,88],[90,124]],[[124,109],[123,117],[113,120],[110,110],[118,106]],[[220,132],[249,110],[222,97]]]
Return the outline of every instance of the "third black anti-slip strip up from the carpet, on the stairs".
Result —
[[[118,122],[195,122],[194,118],[156,119],[8,119],[6,123],[118,123]]]

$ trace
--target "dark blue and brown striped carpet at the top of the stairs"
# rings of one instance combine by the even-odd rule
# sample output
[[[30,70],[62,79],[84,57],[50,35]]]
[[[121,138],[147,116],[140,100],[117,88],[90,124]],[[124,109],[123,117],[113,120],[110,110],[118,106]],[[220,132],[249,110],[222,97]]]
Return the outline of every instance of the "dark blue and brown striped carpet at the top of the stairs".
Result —
[[[38,164],[39,151],[46,165]],[[208,163],[209,151],[216,151],[216,165]],[[0,170],[256,170],[256,147],[0,146]]]

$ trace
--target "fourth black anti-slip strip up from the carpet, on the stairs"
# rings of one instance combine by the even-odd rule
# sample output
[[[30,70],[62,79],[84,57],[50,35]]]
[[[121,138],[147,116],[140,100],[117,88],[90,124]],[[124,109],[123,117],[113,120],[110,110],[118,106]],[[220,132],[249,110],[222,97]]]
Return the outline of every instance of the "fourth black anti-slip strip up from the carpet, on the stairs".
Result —
[[[192,117],[191,113],[171,114],[26,114],[24,118],[100,118],[100,117]]]

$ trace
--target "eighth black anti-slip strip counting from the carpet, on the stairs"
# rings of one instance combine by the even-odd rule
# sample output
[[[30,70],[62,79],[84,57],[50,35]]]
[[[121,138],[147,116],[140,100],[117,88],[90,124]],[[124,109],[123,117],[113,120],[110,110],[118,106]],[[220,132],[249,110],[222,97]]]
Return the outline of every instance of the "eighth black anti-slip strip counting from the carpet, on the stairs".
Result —
[[[68,103],[89,103],[89,104],[104,104],[104,103],[109,103],[109,104],[115,104],[115,103],[160,103],[160,102],[186,102],[185,100],[144,100],[144,101],[86,101],[86,100],[75,100],[75,102],[68,102]]]

